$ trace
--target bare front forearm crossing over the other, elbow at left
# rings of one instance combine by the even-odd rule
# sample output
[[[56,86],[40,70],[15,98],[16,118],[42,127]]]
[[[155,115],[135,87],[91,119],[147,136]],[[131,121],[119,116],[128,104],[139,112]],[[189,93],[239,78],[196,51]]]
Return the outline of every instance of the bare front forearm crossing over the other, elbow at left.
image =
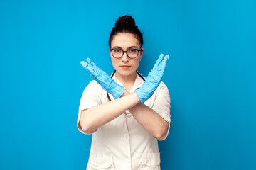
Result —
[[[95,132],[97,128],[114,120],[139,102],[137,94],[133,92],[117,100],[82,110],[79,121],[80,127],[85,133]]]

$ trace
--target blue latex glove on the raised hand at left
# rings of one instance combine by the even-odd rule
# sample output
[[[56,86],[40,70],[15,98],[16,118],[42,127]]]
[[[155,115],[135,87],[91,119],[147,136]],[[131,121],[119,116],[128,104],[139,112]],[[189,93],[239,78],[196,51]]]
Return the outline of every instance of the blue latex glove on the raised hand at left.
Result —
[[[81,62],[82,67],[87,69],[91,74],[92,79],[95,79],[100,86],[102,86],[105,91],[112,94],[114,99],[119,98],[124,93],[124,87],[117,84],[113,79],[107,75],[106,72],[102,71],[97,67],[90,58],[86,59],[86,62]]]

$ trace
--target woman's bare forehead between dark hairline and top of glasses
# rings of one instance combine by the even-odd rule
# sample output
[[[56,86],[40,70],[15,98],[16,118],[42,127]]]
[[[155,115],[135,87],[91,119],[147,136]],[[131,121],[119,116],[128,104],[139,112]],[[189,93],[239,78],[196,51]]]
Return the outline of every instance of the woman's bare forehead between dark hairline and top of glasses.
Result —
[[[111,42],[111,47],[114,46],[122,47],[123,49],[132,46],[139,48],[139,41],[131,33],[118,33],[117,35],[114,35]]]

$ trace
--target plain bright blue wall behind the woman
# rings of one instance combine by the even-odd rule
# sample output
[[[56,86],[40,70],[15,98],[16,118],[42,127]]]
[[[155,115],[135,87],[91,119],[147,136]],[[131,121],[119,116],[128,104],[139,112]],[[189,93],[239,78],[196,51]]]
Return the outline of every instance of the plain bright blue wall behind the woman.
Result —
[[[0,169],[85,169],[80,61],[113,71],[114,21],[135,18],[145,77],[170,55],[161,169],[256,169],[255,1],[0,1]]]

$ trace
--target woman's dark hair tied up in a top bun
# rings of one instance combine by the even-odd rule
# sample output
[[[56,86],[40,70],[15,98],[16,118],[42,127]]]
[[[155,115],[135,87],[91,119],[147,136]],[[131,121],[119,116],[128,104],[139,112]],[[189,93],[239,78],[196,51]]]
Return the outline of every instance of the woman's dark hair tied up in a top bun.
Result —
[[[142,33],[138,29],[138,26],[135,25],[135,21],[134,21],[134,18],[132,18],[132,16],[121,16],[118,18],[118,20],[115,23],[115,26],[112,28],[112,31],[110,33],[110,40],[109,40],[110,47],[111,47],[111,42],[114,38],[114,35],[117,35],[117,33],[134,34],[137,40],[139,40],[139,43],[142,47],[143,45]]]

